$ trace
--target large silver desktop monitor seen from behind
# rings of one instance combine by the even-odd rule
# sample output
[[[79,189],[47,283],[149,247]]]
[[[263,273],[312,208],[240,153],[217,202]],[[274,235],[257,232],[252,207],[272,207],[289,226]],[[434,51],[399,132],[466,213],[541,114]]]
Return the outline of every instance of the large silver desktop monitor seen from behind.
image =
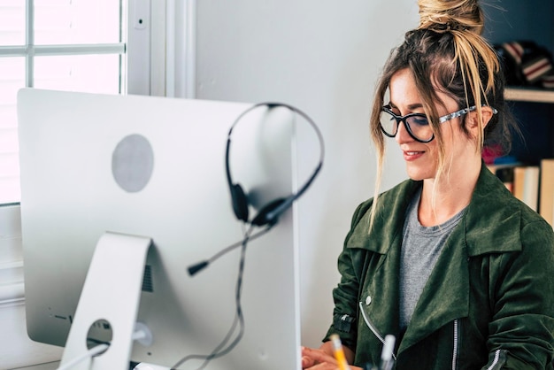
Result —
[[[229,128],[250,106],[19,91],[31,339],[66,346],[64,358],[87,351],[83,330],[98,341],[103,335],[112,339],[94,365],[114,355],[113,343],[128,335],[128,322],[122,322],[136,315],[133,321],[149,328],[152,341],[129,344],[133,361],[173,366],[218,347],[236,317],[241,248],[194,276],[188,267],[242,241],[245,227],[231,206],[225,154]],[[260,107],[234,128],[229,166],[254,208],[296,190],[295,116],[286,108]],[[127,158],[129,150],[135,154]],[[138,170],[130,173],[128,167]],[[300,368],[295,212],[291,207],[269,232],[248,242],[240,296],[242,339],[205,368]],[[97,257],[92,274],[91,259],[102,243],[104,257]],[[81,289],[88,272],[96,277],[87,280],[93,293],[85,300]],[[132,292],[127,297],[137,274],[138,297]],[[73,329],[72,323],[84,327]],[[70,328],[79,335],[72,341],[77,350],[67,355]],[[237,326],[232,339],[238,331]],[[126,352],[127,342],[123,338],[117,350]],[[179,368],[202,364],[191,359]]]

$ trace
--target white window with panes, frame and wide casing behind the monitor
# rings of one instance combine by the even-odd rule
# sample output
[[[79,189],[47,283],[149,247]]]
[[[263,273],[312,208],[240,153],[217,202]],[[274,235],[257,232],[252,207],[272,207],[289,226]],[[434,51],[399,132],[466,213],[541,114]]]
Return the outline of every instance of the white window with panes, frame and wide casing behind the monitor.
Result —
[[[17,91],[193,97],[195,2],[0,0],[0,321],[12,324],[4,333],[11,342],[0,351],[2,365],[59,358],[58,351],[28,340],[24,322],[12,320],[25,304]]]

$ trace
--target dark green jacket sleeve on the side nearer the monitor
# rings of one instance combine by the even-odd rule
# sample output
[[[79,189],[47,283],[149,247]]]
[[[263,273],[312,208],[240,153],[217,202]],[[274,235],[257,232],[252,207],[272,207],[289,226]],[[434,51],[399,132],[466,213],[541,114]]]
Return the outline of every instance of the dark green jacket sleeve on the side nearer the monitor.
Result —
[[[333,322],[323,339],[328,341],[329,335],[338,334],[342,343],[350,350],[356,351],[358,338],[358,293],[361,274],[365,264],[366,251],[346,248],[352,231],[358,225],[359,220],[368,212],[372,200],[358,205],[352,217],[350,232],[345,238],[342,252],[339,255],[337,266],[341,274],[341,280],[333,289],[335,308],[333,310]]]

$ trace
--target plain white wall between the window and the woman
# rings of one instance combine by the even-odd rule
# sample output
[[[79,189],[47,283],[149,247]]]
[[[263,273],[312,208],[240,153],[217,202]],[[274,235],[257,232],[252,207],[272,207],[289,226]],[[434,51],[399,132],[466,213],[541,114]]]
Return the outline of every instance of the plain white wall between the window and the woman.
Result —
[[[354,208],[373,195],[367,122],[374,82],[417,21],[415,0],[196,2],[196,97],[293,104],[325,137],[322,172],[298,203],[305,345],[319,346],[327,331],[336,257]],[[405,178],[390,143],[383,188]],[[300,179],[312,172],[317,146],[302,150]]]

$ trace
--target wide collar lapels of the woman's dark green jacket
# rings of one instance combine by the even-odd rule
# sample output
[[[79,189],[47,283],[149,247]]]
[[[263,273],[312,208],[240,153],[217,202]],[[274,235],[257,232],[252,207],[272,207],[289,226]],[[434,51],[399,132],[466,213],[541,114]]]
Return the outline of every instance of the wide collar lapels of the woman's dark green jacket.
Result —
[[[406,180],[381,194],[369,238],[370,212],[354,227],[347,248],[362,248],[387,254],[393,241],[402,235],[405,210],[423,181]],[[463,239],[469,257],[490,252],[519,251],[521,211],[518,201],[484,163],[473,190],[466,214],[460,221],[465,228]],[[374,243],[379,240],[380,243]]]

